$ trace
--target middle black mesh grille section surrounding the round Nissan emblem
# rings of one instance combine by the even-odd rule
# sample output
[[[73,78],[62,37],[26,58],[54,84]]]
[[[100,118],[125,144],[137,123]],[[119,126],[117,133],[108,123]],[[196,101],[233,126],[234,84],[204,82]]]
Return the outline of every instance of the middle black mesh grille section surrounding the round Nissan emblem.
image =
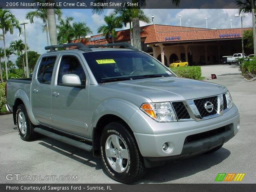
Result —
[[[204,104],[209,101],[213,104],[213,110],[212,112],[206,111],[204,108]],[[218,112],[218,98],[217,96],[214,97],[208,97],[208,98],[202,98],[202,99],[196,99],[194,100],[194,103],[201,115],[202,118],[210,116],[210,115],[215,115]]]

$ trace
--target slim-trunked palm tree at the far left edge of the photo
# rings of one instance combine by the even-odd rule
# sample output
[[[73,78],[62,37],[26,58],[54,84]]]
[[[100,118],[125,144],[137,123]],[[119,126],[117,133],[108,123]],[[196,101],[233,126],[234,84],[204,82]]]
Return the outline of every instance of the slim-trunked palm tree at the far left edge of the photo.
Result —
[[[7,71],[7,61],[6,61],[6,46],[5,46],[5,34],[10,32],[13,34],[14,28],[17,28],[21,34],[22,30],[19,26],[18,20],[8,9],[0,8],[0,28],[3,32],[4,39],[4,60],[5,60],[5,70],[6,70],[6,80],[8,80],[8,71]]]

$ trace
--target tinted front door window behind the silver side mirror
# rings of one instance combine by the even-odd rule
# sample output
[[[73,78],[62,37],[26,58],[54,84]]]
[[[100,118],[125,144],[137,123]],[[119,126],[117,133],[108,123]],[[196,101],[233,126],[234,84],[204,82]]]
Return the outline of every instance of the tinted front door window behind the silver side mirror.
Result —
[[[86,76],[78,59],[74,56],[63,56],[60,62],[58,75],[58,85],[62,84],[62,76],[66,74],[76,74],[81,80],[81,85],[85,85]]]

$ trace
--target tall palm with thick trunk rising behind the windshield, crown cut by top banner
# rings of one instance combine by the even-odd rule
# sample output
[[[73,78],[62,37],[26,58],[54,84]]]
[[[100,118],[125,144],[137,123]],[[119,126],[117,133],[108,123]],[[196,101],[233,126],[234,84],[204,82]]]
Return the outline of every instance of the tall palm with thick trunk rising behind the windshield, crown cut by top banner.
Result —
[[[124,1],[124,0],[122,0]],[[175,6],[179,6],[180,0],[170,0],[172,4]],[[95,0],[95,3],[109,3],[110,0]],[[140,40],[140,20],[139,16],[139,9],[146,6],[147,0],[132,0],[132,3],[138,3],[138,6],[132,8],[132,34],[134,37],[134,47],[141,50],[141,40]],[[94,6],[92,8],[92,13],[101,14],[104,11],[104,6]]]

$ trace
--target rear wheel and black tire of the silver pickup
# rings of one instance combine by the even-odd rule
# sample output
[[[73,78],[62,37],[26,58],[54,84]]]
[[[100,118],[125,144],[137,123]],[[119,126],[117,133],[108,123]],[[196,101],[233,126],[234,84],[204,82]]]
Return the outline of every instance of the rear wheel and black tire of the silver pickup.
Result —
[[[22,116],[19,117],[19,116]],[[28,112],[23,104],[20,104],[17,107],[16,111],[16,125],[18,132],[20,134],[20,138],[24,141],[30,141],[35,139],[38,134],[33,131],[34,125],[31,123]],[[26,126],[26,128],[24,128]]]

